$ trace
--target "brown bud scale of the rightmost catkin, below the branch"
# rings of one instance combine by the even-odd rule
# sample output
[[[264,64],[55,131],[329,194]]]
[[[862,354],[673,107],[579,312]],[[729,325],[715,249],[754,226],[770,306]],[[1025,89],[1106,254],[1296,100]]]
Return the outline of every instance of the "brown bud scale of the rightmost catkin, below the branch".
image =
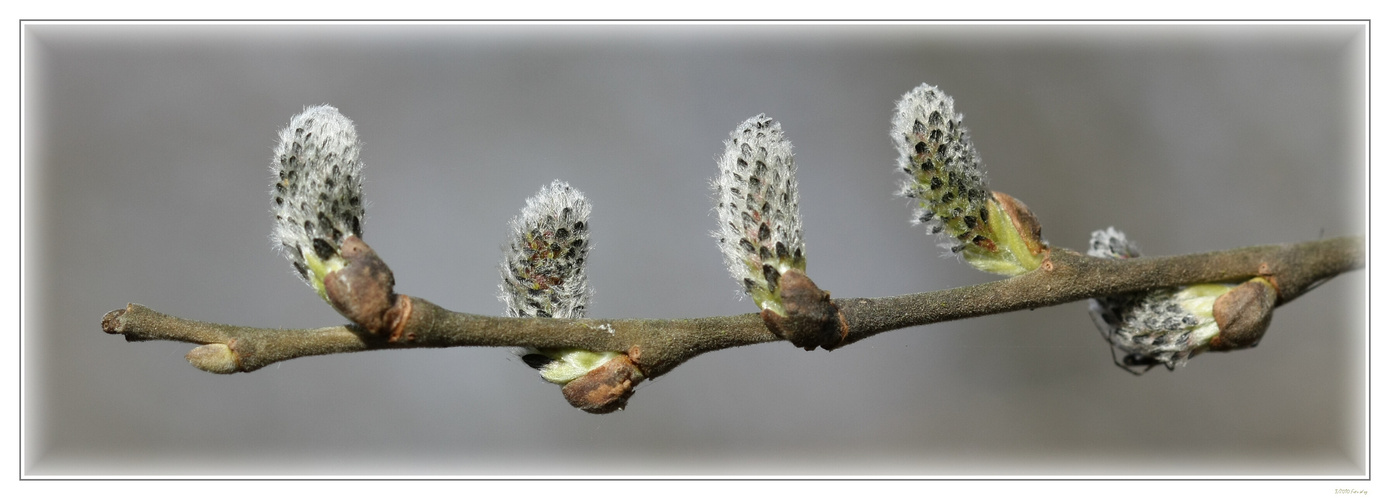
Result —
[[[1255,347],[1269,328],[1277,293],[1264,278],[1241,283],[1216,297],[1212,318],[1220,333],[1211,340],[1211,350],[1227,351]]]

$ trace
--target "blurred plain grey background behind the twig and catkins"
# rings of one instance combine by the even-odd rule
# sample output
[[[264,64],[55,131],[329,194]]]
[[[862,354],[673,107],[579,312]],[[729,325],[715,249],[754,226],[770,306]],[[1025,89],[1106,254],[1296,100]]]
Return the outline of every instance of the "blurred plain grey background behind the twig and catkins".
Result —
[[[837,297],[995,279],[892,196],[895,100],[966,115],[1044,236],[1162,256],[1361,233],[1362,25],[28,25],[26,474],[1362,475],[1366,275],[1250,351],[1133,376],[1084,303],[698,357],[613,415],[509,350],[210,375],[125,343],[128,301],[342,324],[270,243],[270,151],[304,106],[364,139],[367,242],[398,290],[502,314],[506,222],[552,179],[594,203],[592,317],[753,311],[708,179],[739,121],[795,144],[809,274]]]

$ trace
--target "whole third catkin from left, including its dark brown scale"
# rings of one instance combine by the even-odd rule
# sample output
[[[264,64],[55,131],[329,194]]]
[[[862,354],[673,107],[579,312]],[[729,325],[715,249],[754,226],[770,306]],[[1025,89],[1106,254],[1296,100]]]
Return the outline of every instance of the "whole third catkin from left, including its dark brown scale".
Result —
[[[840,344],[840,310],[805,274],[796,165],[781,124],[767,115],[739,124],[724,142],[710,188],[724,264],[763,310],[769,329],[808,350]]]

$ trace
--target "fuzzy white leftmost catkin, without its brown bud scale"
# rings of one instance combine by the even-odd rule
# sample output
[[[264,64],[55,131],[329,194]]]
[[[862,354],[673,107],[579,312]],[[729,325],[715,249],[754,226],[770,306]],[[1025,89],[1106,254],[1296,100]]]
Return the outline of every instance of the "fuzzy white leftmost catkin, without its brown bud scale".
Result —
[[[327,261],[349,235],[361,236],[361,142],[352,119],[332,106],[313,106],[279,132],[271,158],[275,247],[314,286],[309,256]]]

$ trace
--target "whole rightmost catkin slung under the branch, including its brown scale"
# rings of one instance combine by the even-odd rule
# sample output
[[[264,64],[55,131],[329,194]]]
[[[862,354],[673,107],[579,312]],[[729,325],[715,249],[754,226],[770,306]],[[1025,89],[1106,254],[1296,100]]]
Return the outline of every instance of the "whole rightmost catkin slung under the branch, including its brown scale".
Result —
[[[1136,258],[1138,247],[1108,228],[1091,233],[1091,257]],[[1091,318],[1136,375],[1168,369],[1208,350],[1254,347],[1269,326],[1275,290],[1264,278],[1244,283],[1200,283],[1091,299]],[[1115,351],[1112,351],[1115,354]],[[1143,369],[1140,369],[1143,368]]]

